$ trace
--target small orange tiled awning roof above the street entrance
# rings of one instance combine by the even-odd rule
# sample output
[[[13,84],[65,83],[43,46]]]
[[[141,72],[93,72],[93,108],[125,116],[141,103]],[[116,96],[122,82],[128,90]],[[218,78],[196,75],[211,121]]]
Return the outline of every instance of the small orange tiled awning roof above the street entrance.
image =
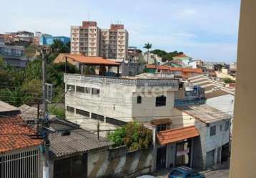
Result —
[[[160,145],[177,142],[191,137],[197,137],[200,133],[195,126],[181,127],[177,129],[164,130],[157,133],[157,139]]]

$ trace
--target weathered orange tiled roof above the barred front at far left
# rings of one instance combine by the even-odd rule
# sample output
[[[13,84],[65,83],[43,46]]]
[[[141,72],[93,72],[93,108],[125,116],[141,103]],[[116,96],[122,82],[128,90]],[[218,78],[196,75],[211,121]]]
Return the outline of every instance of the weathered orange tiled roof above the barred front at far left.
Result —
[[[0,117],[0,153],[40,145],[40,139],[31,138],[35,134],[21,117]]]

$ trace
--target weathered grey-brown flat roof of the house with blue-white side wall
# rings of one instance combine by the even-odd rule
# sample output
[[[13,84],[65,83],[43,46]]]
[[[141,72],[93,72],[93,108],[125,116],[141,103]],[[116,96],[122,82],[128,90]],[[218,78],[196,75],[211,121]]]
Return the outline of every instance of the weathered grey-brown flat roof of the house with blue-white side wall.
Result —
[[[187,115],[195,117],[197,120],[209,124],[211,122],[217,122],[220,120],[230,120],[231,115],[228,115],[227,112],[217,110],[216,108],[211,107],[210,105],[183,105],[175,107],[182,112],[185,112]]]

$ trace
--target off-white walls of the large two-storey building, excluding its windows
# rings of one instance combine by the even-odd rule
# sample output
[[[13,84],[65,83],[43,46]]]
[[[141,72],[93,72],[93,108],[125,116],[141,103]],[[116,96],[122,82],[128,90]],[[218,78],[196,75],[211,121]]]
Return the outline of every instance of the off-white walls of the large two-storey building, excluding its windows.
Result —
[[[137,87],[134,85],[122,85],[119,83],[101,83],[97,79],[92,81],[69,80],[68,85],[78,85],[100,90],[99,96],[79,93],[76,90],[69,92],[65,98],[66,106],[94,112],[105,117],[117,118],[124,122],[155,119],[156,117],[167,117],[172,114],[174,106],[174,90],[171,86],[162,87]],[[67,90],[67,87],[66,87]],[[142,95],[142,103],[137,103],[137,96]],[[156,97],[165,95],[167,97],[165,106],[155,106]],[[152,116],[152,117],[149,117]],[[69,113],[67,113],[69,119]]]

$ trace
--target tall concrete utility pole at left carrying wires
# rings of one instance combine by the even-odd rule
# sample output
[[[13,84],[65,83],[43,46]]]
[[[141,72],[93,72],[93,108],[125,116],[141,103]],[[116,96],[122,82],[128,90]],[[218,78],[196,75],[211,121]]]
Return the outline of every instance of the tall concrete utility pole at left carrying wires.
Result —
[[[43,166],[43,178],[49,178],[49,146],[50,142],[48,139],[49,120],[47,116],[47,103],[46,103],[46,56],[49,51],[46,46],[41,48],[42,57],[42,92],[43,92],[43,138],[44,138],[44,166]]]

